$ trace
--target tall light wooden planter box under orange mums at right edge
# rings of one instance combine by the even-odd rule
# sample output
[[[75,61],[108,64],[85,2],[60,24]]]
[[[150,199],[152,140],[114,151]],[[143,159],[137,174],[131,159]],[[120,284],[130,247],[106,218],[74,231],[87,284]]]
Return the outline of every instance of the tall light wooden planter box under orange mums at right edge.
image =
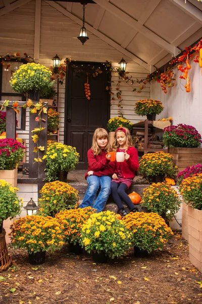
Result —
[[[189,260],[202,272],[202,210],[188,207]]]

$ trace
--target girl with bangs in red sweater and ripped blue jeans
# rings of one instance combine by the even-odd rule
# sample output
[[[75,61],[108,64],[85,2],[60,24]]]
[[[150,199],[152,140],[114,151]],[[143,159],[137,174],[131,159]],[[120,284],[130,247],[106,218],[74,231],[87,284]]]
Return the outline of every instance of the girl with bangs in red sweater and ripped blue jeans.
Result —
[[[88,171],[85,179],[88,188],[80,208],[90,206],[97,209],[96,212],[105,208],[111,192],[111,176],[115,170],[115,162],[110,162],[111,155],[107,155],[109,151],[111,146],[108,132],[103,128],[97,128],[93,134],[92,147],[87,152]],[[99,194],[94,201],[99,187]]]

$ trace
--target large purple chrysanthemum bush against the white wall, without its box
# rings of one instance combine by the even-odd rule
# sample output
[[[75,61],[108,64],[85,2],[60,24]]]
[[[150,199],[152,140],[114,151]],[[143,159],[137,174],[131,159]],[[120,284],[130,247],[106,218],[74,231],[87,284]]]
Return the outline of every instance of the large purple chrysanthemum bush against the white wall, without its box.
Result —
[[[198,131],[189,125],[169,126],[163,131],[163,142],[167,147],[197,148],[202,142]]]

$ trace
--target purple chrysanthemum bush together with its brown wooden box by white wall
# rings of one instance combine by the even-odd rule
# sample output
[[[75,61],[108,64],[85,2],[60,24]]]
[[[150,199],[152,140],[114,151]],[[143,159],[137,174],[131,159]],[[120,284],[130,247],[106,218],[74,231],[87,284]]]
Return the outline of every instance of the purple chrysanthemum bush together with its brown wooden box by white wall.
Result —
[[[189,125],[179,124],[163,130],[163,142],[168,147],[168,153],[173,155],[173,162],[179,170],[187,165],[192,166],[202,162],[201,135]]]

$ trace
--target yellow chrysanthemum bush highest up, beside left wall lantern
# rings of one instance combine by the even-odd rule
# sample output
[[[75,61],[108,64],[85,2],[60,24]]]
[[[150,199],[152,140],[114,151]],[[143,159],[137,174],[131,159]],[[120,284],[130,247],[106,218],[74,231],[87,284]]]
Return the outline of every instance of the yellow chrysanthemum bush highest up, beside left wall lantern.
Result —
[[[11,88],[19,93],[30,90],[47,90],[53,86],[52,71],[39,63],[22,64],[12,75]]]

